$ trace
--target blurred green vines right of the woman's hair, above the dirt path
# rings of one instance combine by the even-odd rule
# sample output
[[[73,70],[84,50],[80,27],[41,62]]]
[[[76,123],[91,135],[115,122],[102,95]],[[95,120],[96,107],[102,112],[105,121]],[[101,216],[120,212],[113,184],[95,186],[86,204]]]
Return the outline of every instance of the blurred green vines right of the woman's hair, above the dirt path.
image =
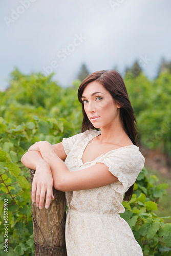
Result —
[[[137,117],[141,143],[148,148],[160,147],[171,157],[171,74],[161,73],[149,81],[143,73],[135,79],[127,73],[124,81]]]

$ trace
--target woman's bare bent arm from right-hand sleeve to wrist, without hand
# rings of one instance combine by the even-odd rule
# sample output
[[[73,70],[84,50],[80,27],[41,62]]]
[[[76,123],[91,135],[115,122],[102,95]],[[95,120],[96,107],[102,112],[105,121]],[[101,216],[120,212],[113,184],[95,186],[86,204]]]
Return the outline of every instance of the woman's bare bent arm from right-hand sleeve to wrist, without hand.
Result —
[[[106,186],[118,181],[109,167],[96,163],[79,171],[70,172],[67,165],[58,156],[49,161],[53,176],[53,185],[60,191],[74,191]]]

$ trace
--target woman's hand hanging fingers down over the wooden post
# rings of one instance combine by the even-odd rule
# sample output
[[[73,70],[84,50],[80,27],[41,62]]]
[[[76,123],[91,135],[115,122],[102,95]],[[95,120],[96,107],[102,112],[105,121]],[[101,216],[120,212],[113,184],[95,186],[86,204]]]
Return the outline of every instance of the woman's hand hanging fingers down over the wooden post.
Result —
[[[36,167],[36,172],[34,174],[33,183],[32,183],[32,202],[36,202],[36,205],[41,209],[44,205],[45,193],[46,193],[46,204],[45,208],[48,209],[51,198],[53,196],[53,177],[50,165],[46,161],[42,161]],[[36,199],[35,199],[36,192]]]

